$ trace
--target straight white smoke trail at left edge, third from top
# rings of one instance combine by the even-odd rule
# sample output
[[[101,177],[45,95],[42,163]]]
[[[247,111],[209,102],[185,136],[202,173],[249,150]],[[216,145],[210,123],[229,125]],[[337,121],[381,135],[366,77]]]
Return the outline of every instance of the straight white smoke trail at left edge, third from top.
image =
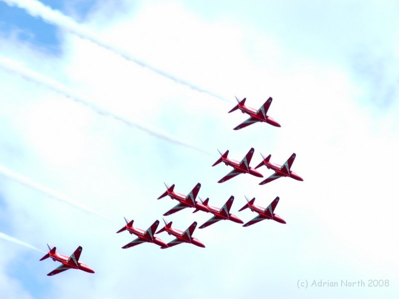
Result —
[[[63,194],[61,194],[61,193],[59,193],[57,191],[51,190],[50,188],[47,188],[46,186],[43,186],[42,184],[37,183],[37,182],[27,178],[26,176],[23,176],[22,174],[19,174],[19,173],[15,172],[15,171],[12,171],[12,170],[6,168],[3,165],[0,165],[0,175],[3,175],[5,177],[7,177],[7,178],[9,178],[9,179],[21,184],[21,185],[23,185],[23,186],[26,186],[26,187],[31,188],[33,190],[39,191],[39,192],[41,192],[41,193],[43,193],[43,194],[45,194],[45,195],[47,195],[47,196],[49,196],[51,198],[57,199],[59,201],[62,201],[64,203],[66,203],[66,204],[68,204],[70,206],[73,206],[75,208],[78,208],[78,209],[80,209],[82,211],[85,211],[87,213],[94,214],[94,215],[100,216],[100,217],[102,217],[104,219],[112,221],[107,216],[104,216],[104,215],[98,213],[97,211],[94,211],[94,210],[92,210],[92,209],[90,209],[90,208],[88,208],[88,207],[86,207],[86,206],[74,201],[73,199],[71,199],[71,198],[69,198],[69,197],[67,197],[67,196],[65,196],[65,195],[63,195]]]

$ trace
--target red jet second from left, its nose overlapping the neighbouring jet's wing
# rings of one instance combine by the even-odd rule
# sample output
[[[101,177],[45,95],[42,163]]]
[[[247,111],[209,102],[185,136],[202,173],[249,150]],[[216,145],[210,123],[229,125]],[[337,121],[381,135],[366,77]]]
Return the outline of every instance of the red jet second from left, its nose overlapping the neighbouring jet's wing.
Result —
[[[125,217],[123,217],[125,218]],[[141,243],[144,242],[149,242],[149,243],[154,243],[157,244],[159,246],[162,247],[168,247],[168,245],[162,241],[160,238],[155,237],[155,231],[157,230],[157,227],[159,225],[159,221],[156,220],[153,225],[150,226],[150,228],[146,231],[140,229],[140,228],[136,228],[133,226],[133,220],[129,221],[125,218],[126,221],[126,225],[124,227],[122,227],[119,231],[117,231],[116,233],[120,233],[123,232],[124,230],[128,230],[128,232],[130,234],[135,234],[136,236],[138,236],[138,238],[136,240],[133,240],[132,242],[130,242],[129,244],[126,244],[125,246],[123,246],[123,249],[132,247],[132,246],[136,246],[139,245]]]

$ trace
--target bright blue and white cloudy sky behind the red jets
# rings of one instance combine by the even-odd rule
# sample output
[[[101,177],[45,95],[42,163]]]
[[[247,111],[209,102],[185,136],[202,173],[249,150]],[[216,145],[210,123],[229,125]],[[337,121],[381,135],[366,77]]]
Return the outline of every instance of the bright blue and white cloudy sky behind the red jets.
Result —
[[[55,263],[0,240],[6,298],[76,292],[90,298],[132,292],[138,298],[397,298],[395,1],[42,1],[79,22],[85,38],[66,30],[70,23],[59,14],[60,24],[49,24],[5,2],[0,165],[109,219],[2,173],[0,232],[43,251],[50,243],[65,255],[81,245],[81,260],[96,271],[49,278]],[[227,102],[246,97],[257,109],[272,96],[269,114],[282,127],[233,131],[245,120],[227,114],[233,104],[160,76],[122,52]],[[22,78],[26,70],[36,83]],[[155,138],[65,94],[210,154]],[[218,184],[229,168],[211,167],[216,149],[241,159],[251,147],[252,165],[260,162],[259,152],[271,153],[276,163],[296,152],[293,170],[304,181],[259,186],[259,179],[241,175]],[[122,250],[132,240],[115,234],[123,216],[146,229],[176,205],[156,200],[163,182],[175,183],[180,193],[201,182],[200,197],[215,206],[234,195],[231,211],[245,222],[254,215],[238,212],[244,195],[261,206],[280,196],[276,213],[287,224],[220,222],[195,231],[205,249],[143,244]],[[184,210],[168,220],[184,230],[209,218]],[[298,280],[341,279],[390,280],[390,287],[297,288]]]

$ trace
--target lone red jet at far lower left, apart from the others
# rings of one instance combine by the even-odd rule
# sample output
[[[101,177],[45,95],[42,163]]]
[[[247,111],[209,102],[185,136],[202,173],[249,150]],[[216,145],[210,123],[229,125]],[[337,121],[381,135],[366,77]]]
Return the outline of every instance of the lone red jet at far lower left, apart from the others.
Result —
[[[42,257],[40,261],[51,258],[54,262],[57,261],[61,263],[61,266],[51,271],[47,276],[53,276],[68,269],[78,269],[88,273],[94,273],[94,271],[85,263],[79,262],[80,254],[82,253],[82,246],[79,246],[70,257],[57,253],[56,247],[51,247],[48,244],[47,247],[49,252]]]

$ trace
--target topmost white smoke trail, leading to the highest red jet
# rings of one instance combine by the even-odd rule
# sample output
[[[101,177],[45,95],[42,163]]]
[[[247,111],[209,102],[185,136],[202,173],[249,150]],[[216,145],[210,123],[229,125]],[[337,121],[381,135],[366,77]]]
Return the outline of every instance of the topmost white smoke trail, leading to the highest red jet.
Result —
[[[86,27],[77,23],[72,18],[62,14],[58,10],[52,9],[51,7],[44,5],[43,3],[41,3],[37,0],[3,0],[3,1],[6,2],[9,6],[16,5],[19,8],[23,8],[31,16],[34,16],[34,17],[39,16],[44,21],[46,21],[48,23],[57,25],[66,31],[76,34],[80,38],[90,40],[91,42],[99,45],[100,47],[110,50],[110,51],[120,55],[121,57],[125,58],[126,60],[132,61],[141,67],[148,68],[148,69],[152,70],[153,72],[155,72],[165,78],[173,80],[176,83],[188,86],[188,87],[192,88],[193,90],[196,90],[196,91],[199,91],[202,93],[206,93],[206,94],[208,94],[212,97],[215,97],[219,100],[230,103],[230,101],[226,100],[225,98],[223,98],[217,94],[214,94],[206,89],[203,89],[196,85],[193,85],[188,81],[185,81],[183,79],[175,77],[163,70],[160,70],[156,67],[153,67],[153,66],[147,64],[146,62],[144,62],[136,57],[133,57],[131,54],[127,53],[126,51],[119,49],[118,47],[112,45],[111,43],[101,39],[94,32],[88,30]]]

